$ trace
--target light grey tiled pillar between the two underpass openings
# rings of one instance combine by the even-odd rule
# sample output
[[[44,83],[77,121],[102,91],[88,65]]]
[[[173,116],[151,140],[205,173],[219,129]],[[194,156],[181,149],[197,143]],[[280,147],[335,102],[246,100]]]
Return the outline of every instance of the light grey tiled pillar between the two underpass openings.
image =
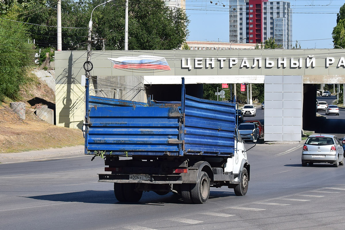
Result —
[[[302,76],[265,76],[265,141],[300,141]]]

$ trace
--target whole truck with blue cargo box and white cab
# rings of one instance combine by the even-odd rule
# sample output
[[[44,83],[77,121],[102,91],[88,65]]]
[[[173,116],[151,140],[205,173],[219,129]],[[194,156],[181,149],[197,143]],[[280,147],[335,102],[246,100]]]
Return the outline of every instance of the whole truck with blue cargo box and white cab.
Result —
[[[246,194],[250,165],[235,103],[187,96],[182,79],[181,101],[95,97],[86,87],[86,108],[85,154],[105,158],[99,181],[114,183],[118,201],[154,191],[205,203],[210,187],[222,186]]]

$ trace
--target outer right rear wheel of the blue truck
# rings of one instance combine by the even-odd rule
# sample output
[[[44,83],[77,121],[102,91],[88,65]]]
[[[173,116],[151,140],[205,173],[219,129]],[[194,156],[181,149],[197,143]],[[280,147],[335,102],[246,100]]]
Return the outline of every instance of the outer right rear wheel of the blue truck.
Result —
[[[210,179],[206,172],[201,172],[198,182],[191,189],[191,197],[196,204],[206,203],[210,195]]]

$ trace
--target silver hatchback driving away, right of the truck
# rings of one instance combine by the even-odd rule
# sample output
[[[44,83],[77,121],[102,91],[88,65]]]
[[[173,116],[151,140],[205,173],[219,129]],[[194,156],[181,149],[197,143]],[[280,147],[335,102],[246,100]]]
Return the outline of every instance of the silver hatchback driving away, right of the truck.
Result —
[[[314,163],[331,163],[334,167],[344,165],[344,150],[334,135],[317,134],[309,136],[302,150],[302,166]]]

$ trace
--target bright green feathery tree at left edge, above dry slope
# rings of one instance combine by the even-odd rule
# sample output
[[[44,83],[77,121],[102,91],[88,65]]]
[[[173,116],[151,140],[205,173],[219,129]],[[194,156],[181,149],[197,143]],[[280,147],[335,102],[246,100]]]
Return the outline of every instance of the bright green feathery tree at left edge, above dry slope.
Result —
[[[0,100],[18,99],[28,81],[27,70],[33,65],[34,47],[22,23],[0,19]]]

